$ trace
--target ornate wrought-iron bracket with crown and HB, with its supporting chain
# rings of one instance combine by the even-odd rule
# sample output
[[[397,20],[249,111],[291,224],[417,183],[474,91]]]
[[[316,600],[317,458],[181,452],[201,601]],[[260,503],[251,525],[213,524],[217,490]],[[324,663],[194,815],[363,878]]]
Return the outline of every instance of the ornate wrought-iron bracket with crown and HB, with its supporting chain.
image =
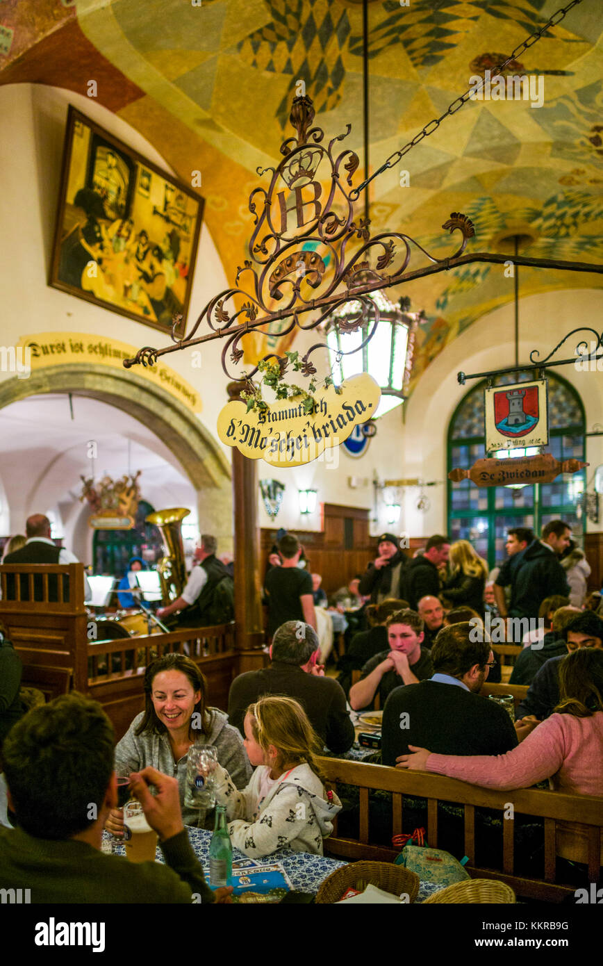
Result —
[[[493,73],[503,70],[581,2],[571,0],[516,47]],[[354,303],[355,311],[341,320],[338,327],[345,332],[356,332],[363,328],[365,333],[353,351],[341,354],[352,355],[363,349],[379,325],[379,307],[373,299],[367,298],[369,293],[473,262],[505,264],[507,256],[503,254],[463,254],[467,242],[474,237],[474,225],[465,214],[454,212],[444,222],[445,230],[461,233],[461,241],[448,257],[439,259],[405,233],[382,232],[371,238],[369,219],[356,215],[354,210],[359,192],[366,190],[369,182],[433,133],[446,116],[459,110],[469,98],[470,92],[466,92],[454,100],[441,118],[422,128],[412,141],[351,191],[346,189],[346,185],[352,187],[352,178],[359,167],[358,156],[349,149],[333,156],[336,143],[347,137],[351,126],[347,125],[346,131],[331,138],[325,147],[322,128],[311,127],[314,120],[311,99],[305,96],[295,98],[290,122],[297,136],[282,143],[280,152],[283,159],[275,168],[258,169],[260,176],[272,172],[268,189],[258,186],[249,196],[249,210],[256,227],[248,244],[250,258],[244,261],[243,267],[238,267],[235,286],[225,289],[208,302],[186,337],[178,334],[183,317],[177,314],[171,333],[174,345],[162,349],[145,346],[133,358],[125,359],[124,366],[129,368],[139,363],[153,365],[160,355],[224,339],[221,354],[224,373],[230,379],[250,382],[258,371],[259,363],[250,372],[241,369],[245,335],[257,330],[278,339],[296,328],[315,329],[333,311],[350,302]],[[323,185],[329,183],[329,193],[324,198]],[[259,213],[258,206],[261,207]],[[431,264],[409,270],[411,245]],[[514,262],[533,268],[603,272],[601,265],[558,259],[516,256]],[[242,275],[248,280],[246,288],[239,286]],[[277,303],[281,303],[281,307],[276,308]],[[302,317],[306,313],[312,315],[309,321],[303,322]],[[203,323],[210,331],[197,335]],[[277,330],[274,329],[275,324]],[[315,343],[302,357],[303,376],[316,373],[310,355],[319,349],[327,350],[327,343]],[[278,361],[282,375],[289,365],[289,359],[286,355],[269,353],[260,362],[271,358]],[[237,368],[233,369],[232,366]]]

